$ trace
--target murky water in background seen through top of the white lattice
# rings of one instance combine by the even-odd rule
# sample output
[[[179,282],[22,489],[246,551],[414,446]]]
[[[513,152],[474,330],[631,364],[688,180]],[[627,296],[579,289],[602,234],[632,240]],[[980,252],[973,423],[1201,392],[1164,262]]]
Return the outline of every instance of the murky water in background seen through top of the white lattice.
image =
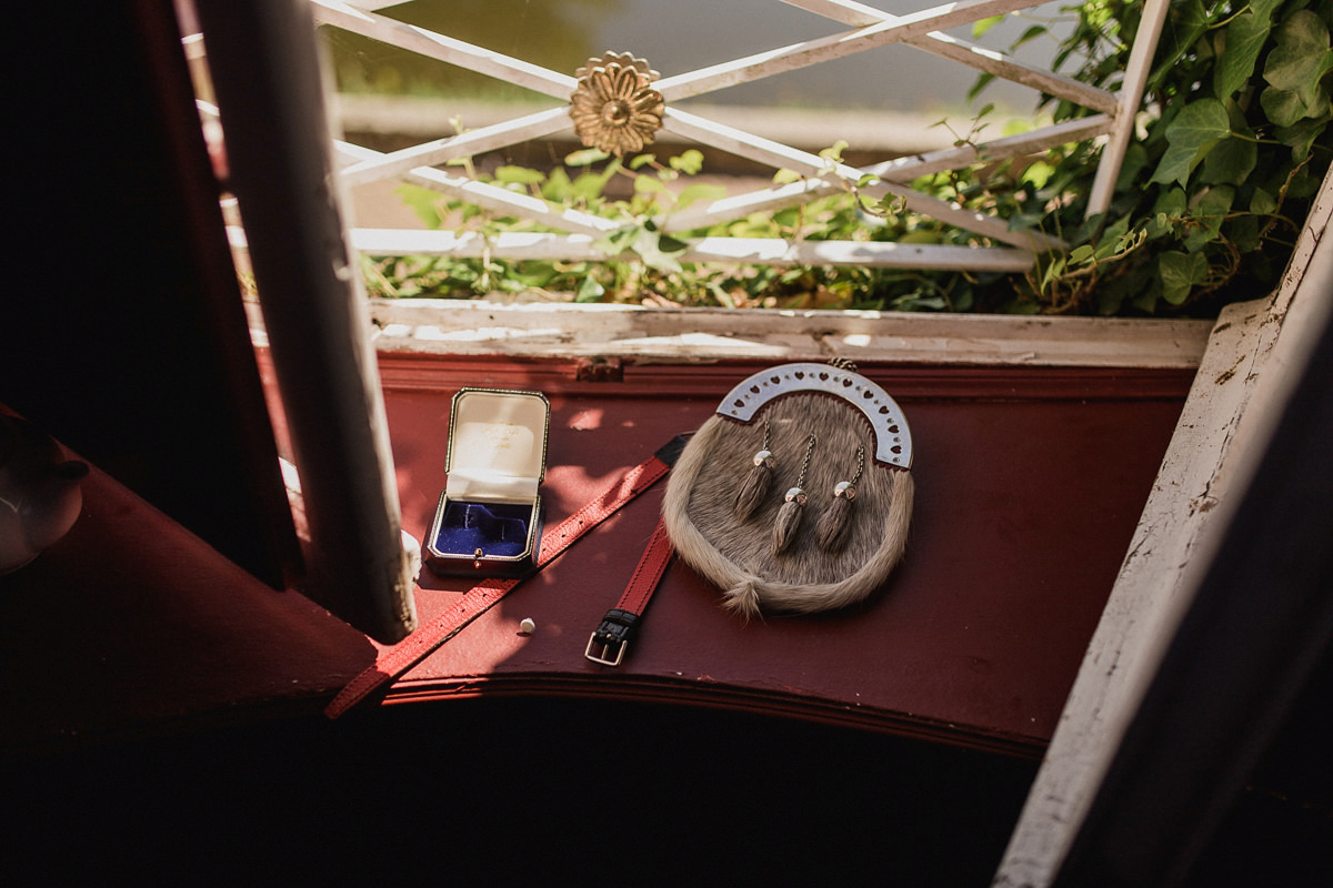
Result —
[[[872,0],[868,5],[906,15],[920,0]],[[1069,13],[1048,3],[1010,16],[980,43],[1009,45],[1030,25],[1069,32]],[[416,0],[384,15],[467,40],[525,61],[573,73],[604,51],[633,52],[664,76],[846,31],[845,25],[778,0]],[[1060,24],[1060,21],[1065,24]],[[327,29],[340,88],[388,95],[437,95],[517,100],[525,91],[376,41]],[[954,29],[972,37],[970,25]],[[1054,37],[1025,44],[1017,57],[1049,64]],[[701,101],[796,108],[957,111],[977,73],[912,47],[893,45],[732,87]],[[1016,112],[1036,104],[1030,89],[996,81],[977,99]]]

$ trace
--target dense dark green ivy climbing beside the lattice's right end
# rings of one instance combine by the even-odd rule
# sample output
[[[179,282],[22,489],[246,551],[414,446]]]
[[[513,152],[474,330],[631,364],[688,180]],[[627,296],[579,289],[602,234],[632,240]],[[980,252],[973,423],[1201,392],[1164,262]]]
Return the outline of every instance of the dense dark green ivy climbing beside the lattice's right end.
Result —
[[[1066,43],[1086,57],[1074,76],[1116,88],[1141,12],[1128,0],[1084,4]],[[1330,21],[1330,0],[1172,3],[1144,134],[1109,212],[1082,222],[1092,169],[1070,170],[1069,188],[1048,193],[1058,206],[1048,224],[1073,232],[1076,248],[1058,273],[1028,276],[1024,297],[1046,312],[1209,314],[1269,293],[1333,154]],[[1084,113],[1048,107],[1057,121]],[[1108,236],[1136,246],[1112,261],[1080,250]]]

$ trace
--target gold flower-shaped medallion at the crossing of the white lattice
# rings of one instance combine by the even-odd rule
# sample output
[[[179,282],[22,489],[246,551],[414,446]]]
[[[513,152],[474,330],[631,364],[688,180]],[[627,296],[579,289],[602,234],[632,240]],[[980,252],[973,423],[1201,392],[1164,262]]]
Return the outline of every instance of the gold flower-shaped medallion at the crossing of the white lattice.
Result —
[[[583,144],[617,157],[651,145],[666,111],[651,85],[660,76],[628,52],[589,59],[575,72],[579,87],[569,96],[569,116]]]

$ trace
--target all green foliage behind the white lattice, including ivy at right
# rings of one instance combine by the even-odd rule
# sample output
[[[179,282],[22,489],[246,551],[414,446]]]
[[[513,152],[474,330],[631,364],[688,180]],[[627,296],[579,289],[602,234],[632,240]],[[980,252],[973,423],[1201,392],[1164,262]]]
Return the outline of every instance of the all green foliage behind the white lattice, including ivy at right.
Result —
[[[1062,41],[1057,65],[1073,64],[1072,76],[1117,89],[1142,3],[1090,0],[1069,11],[1077,25]],[[977,23],[974,32],[993,24]],[[688,241],[705,236],[986,241],[909,213],[892,196],[866,197],[861,189],[873,182],[869,177],[800,208],[669,236],[661,230],[664,218],[724,194],[717,185],[682,180],[700,173],[700,152],[660,162],[653,154],[620,160],[581,150],[549,172],[500,166],[479,178],[615,220],[617,228],[596,244],[615,261],[509,262],[485,252],[480,258],[397,257],[367,260],[367,277],[372,293],[383,296],[537,290],[580,302],[726,308],[1213,313],[1225,301],[1256,298],[1277,285],[1329,166],[1330,24],[1333,0],[1174,0],[1148,77],[1140,137],[1101,216],[1085,218],[1101,150],[1094,144],[913,182],[932,197],[1070,244],[1068,253],[1038,257],[1028,274],[685,264]],[[1017,43],[1045,32],[1033,25]],[[981,77],[973,93],[988,80]],[[1038,111],[1056,122],[1089,113],[1049,97]],[[984,107],[966,132],[950,128],[954,142],[980,144],[989,113]],[[845,148],[837,142],[821,152],[825,164],[841,162]],[[800,180],[792,170],[774,176],[777,185]],[[483,241],[501,232],[544,230],[425,189],[404,186],[401,194],[428,226]]]

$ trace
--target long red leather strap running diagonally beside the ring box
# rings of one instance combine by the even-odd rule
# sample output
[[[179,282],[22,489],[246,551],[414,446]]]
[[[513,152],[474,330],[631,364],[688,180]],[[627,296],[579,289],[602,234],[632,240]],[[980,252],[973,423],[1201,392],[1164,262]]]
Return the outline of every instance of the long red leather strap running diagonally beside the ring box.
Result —
[[[635,497],[648,490],[653,482],[665,475],[672,465],[674,465],[684,446],[685,438],[677,435],[647,461],[627,471],[623,478],[612,483],[601,494],[593,497],[583,509],[560,522],[553,530],[543,534],[535,571],[545,567],[573,545],[576,539],[604,522],[621,506],[635,499]],[[665,531],[661,535],[665,537]],[[656,539],[657,534],[655,533],[653,541]],[[653,542],[649,543],[649,550],[652,549]],[[661,568],[665,570],[665,563]],[[643,570],[643,563],[640,564],[640,570]],[[640,574],[640,570],[635,571],[636,576]],[[659,570],[657,576],[661,576],[661,570]],[[509,590],[524,579],[527,578],[487,579],[471,588],[452,607],[437,614],[393,647],[381,651],[375,660],[375,666],[361,672],[347,687],[339,691],[337,696],[325,707],[324,715],[336,719],[381,687],[401,678],[408,670],[429,656],[432,651],[463,631],[468,623],[493,607]],[[656,580],[653,584],[656,586]],[[631,586],[633,586],[633,582]],[[644,603],[647,603],[647,599]],[[621,651],[623,655],[624,652]],[[619,659],[616,662],[619,663]]]

